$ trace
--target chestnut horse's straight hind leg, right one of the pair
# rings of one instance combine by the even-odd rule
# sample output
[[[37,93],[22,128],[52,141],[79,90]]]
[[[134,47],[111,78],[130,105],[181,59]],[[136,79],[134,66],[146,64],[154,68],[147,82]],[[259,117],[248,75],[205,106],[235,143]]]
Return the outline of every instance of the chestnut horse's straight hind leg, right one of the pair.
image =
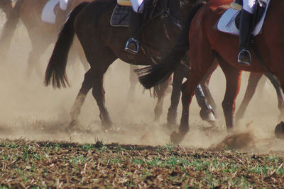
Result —
[[[226,129],[231,131],[234,128],[234,110],[236,107],[236,96],[241,86],[241,70],[232,67],[224,59],[218,57],[218,63],[226,77],[226,92],[222,107],[226,120]]]

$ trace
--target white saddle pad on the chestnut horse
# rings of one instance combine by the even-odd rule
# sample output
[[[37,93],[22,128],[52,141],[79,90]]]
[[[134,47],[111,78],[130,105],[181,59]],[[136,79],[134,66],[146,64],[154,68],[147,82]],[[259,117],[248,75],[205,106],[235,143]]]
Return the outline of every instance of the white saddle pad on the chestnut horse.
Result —
[[[253,15],[253,35],[261,32],[268,5],[271,0],[258,0],[256,11]],[[239,35],[239,23],[241,19],[242,1],[239,4],[231,4],[231,8],[225,11],[217,23],[217,29],[224,33]]]

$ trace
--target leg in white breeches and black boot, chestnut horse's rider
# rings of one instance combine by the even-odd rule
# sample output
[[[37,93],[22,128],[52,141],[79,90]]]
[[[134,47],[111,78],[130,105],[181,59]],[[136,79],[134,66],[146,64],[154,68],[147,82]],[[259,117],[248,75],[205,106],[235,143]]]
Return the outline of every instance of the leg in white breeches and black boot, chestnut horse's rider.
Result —
[[[244,6],[241,10],[240,35],[239,35],[239,64],[249,66],[251,64],[251,53],[249,52],[249,40],[253,22],[253,11],[256,0],[244,0]]]

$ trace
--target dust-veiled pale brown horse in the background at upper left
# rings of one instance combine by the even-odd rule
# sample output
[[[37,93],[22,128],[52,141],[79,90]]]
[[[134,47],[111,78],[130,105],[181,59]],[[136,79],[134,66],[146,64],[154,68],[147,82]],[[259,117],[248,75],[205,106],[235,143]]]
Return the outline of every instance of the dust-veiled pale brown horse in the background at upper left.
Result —
[[[7,50],[9,50],[11,38],[16,30],[16,25],[19,19],[21,18],[21,21],[23,21],[23,24],[26,26],[32,45],[32,50],[28,56],[28,76],[31,74],[33,69],[35,69],[40,77],[43,76],[39,64],[40,55],[43,55],[45,50],[56,41],[59,28],[61,28],[61,25],[67,18],[68,13],[72,10],[72,8],[82,3],[82,1],[83,0],[71,0],[66,11],[62,11],[60,8],[57,8],[57,24],[45,23],[41,20],[43,7],[48,0],[16,1],[13,11],[11,11],[11,15],[9,16],[9,19],[6,21],[2,30],[0,39],[2,57],[4,57]],[[82,51],[80,45],[77,45],[76,52],[79,53],[74,52],[72,55],[78,55],[85,69],[89,69],[84,58],[84,52]]]

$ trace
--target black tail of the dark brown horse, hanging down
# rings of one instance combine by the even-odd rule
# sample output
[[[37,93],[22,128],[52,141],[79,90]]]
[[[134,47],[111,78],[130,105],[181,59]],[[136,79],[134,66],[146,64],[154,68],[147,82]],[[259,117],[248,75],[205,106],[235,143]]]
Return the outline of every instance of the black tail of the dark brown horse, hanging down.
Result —
[[[53,50],[53,54],[50,57],[50,61],[48,62],[48,67],[45,71],[45,86],[50,84],[50,80],[53,81],[53,87],[60,88],[70,86],[66,76],[66,64],[68,53],[70,47],[72,45],[75,29],[74,29],[74,21],[78,13],[87,6],[88,2],[83,2],[82,4],[76,6],[74,10],[70,13],[68,20],[63,26],[62,30],[58,35],[58,41],[55,43],[55,47]]]

